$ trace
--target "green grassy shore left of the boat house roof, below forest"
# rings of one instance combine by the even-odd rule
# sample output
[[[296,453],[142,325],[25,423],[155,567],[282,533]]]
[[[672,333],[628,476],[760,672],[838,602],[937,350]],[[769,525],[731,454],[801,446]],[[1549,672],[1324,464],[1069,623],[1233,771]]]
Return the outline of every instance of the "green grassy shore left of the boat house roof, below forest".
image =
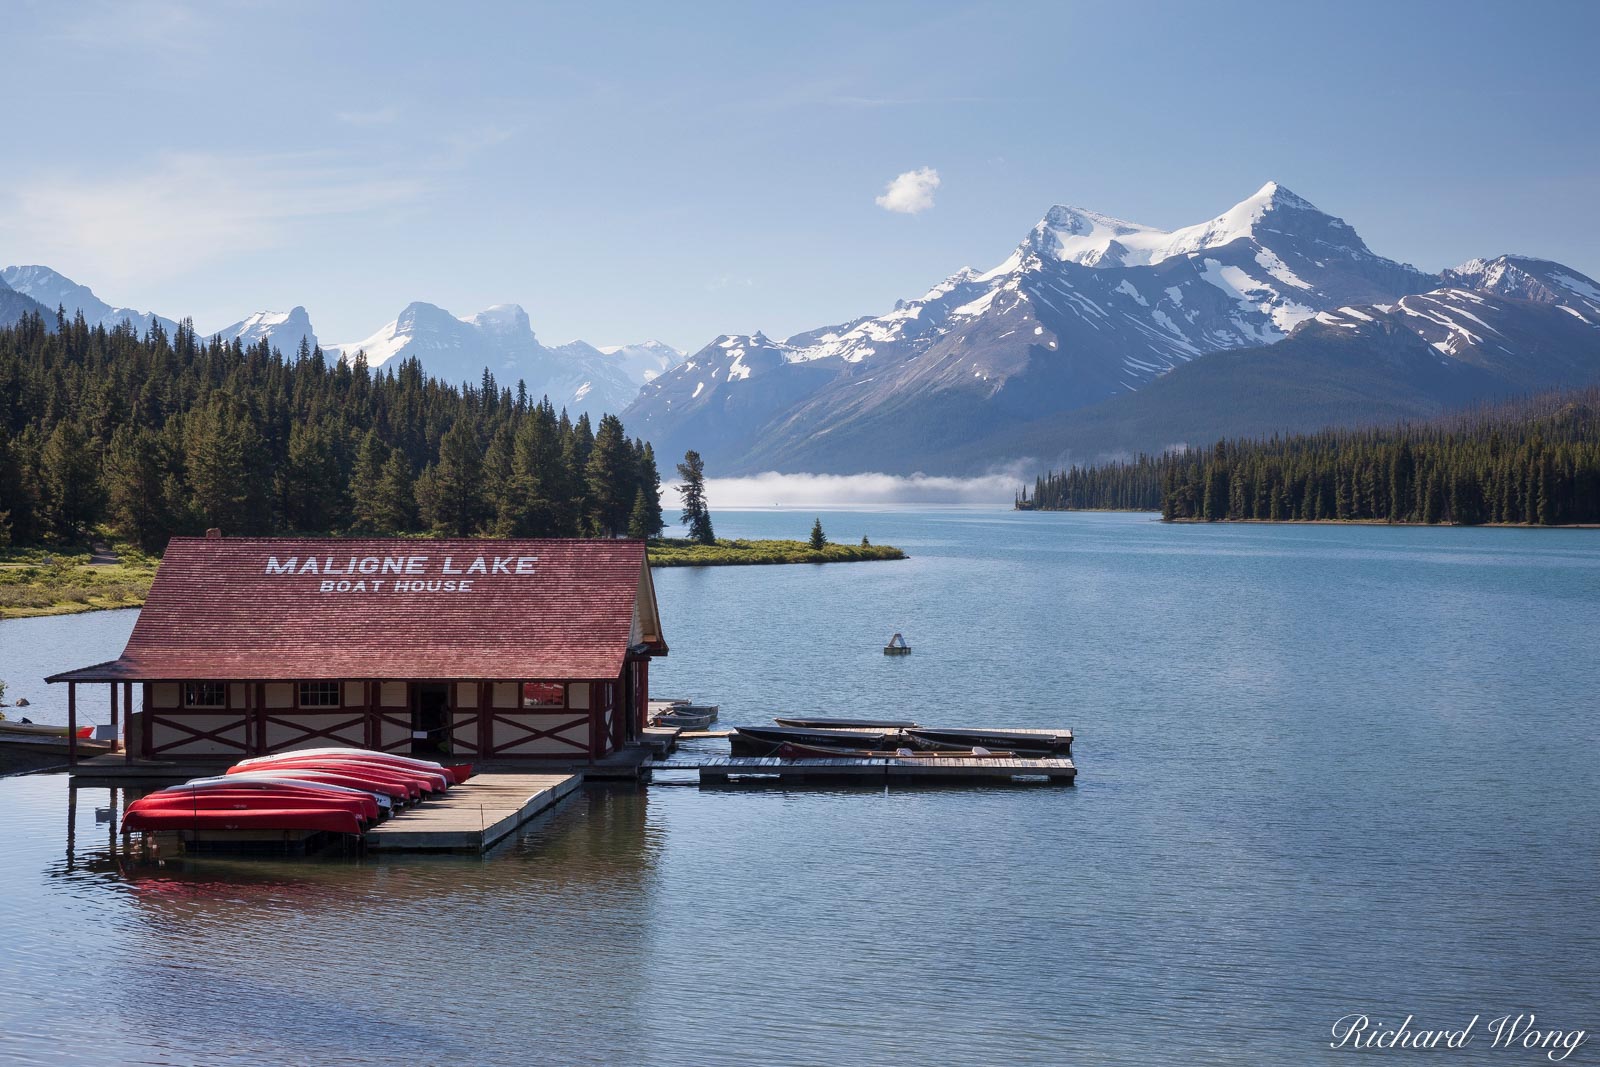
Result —
[[[117,563],[90,565],[88,549],[0,553],[0,619],[138,608],[155,577],[152,557],[117,545]]]

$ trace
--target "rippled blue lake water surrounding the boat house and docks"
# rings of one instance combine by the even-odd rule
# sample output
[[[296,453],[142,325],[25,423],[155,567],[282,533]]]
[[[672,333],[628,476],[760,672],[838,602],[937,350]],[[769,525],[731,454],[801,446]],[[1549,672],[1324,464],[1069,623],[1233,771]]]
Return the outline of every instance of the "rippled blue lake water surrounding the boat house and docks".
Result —
[[[0,1059],[1310,1064],[1365,1011],[1480,1016],[1397,1062],[1534,1064],[1488,1022],[1600,1027],[1600,533],[822,522],[912,558],[659,571],[651,688],[1066,725],[1075,787],[589,789],[486,859],[141,867],[107,790],[3,779]],[[59,721],[37,678],[131,622],[3,622],[0,677]]]

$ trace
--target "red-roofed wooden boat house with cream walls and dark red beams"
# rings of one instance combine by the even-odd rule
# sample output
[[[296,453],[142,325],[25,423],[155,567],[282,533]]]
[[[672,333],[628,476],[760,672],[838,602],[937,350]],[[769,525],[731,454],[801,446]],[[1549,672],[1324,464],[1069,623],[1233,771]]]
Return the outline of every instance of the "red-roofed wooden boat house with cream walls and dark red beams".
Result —
[[[594,761],[638,736],[666,654],[642,541],[211,531],[171,541],[120,657],[48,681],[74,728],[107,683],[130,760]]]

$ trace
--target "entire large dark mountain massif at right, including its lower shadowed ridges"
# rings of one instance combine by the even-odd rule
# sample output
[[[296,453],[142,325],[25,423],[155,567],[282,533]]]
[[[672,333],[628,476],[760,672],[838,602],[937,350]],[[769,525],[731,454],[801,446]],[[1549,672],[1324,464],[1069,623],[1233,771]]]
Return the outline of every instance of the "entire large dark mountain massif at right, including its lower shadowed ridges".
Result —
[[[1576,270],[1424,274],[1269,182],[1171,232],[1054,206],[995,269],[885,315],[720,336],[624,418],[718,474],[979,472],[1595,381],[1597,328]]]

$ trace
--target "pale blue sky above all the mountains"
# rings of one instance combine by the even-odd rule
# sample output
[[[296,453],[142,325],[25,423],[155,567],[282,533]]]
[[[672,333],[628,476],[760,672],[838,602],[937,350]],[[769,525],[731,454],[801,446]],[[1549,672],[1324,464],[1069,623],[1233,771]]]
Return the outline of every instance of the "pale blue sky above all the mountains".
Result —
[[[1590,3],[24,2],[0,264],[202,330],[518,302],[698,349],[886,310],[1051,203],[1174,227],[1277,179],[1419,267],[1597,275],[1595,40]],[[933,206],[877,203],[920,168]]]

